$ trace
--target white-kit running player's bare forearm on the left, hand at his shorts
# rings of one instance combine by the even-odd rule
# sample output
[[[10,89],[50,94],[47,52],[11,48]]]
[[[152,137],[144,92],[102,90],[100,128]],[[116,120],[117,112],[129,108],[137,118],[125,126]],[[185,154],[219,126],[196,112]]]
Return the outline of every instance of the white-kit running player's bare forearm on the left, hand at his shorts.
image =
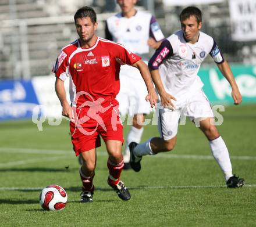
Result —
[[[165,91],[159,70],[151,70],[150,73],[155,87],[157,87],[158,93],[161,97],[162,106],[172,110],[175,109],[175,105],[172,103],[172,100],[176,100],[176,98]]]

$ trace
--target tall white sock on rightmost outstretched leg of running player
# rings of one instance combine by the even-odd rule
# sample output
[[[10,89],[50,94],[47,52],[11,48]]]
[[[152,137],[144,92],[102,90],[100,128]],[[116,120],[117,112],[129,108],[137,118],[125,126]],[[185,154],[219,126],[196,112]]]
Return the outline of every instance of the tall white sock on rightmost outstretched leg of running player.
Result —
[[[226,181],[233,176],[232,165],[229,158],[229,151],[227,150],[226,144],[219,136],[217,139],[209,141],[212,150],[212,155],[221,167]]]

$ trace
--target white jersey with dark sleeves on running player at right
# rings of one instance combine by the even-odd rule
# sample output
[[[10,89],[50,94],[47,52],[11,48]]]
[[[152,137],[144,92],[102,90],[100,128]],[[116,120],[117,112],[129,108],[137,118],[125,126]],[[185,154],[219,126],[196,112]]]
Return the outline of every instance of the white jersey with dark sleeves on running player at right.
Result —
[[[208,53],[216,63],[224,61],[209,35],[200,32],[198,41],[190,44],[184,39],[183,32],[177,31],[162,42],[148,66],[159,69],[166,92],[175,96],[179,103],[203,87],[197,73]]]

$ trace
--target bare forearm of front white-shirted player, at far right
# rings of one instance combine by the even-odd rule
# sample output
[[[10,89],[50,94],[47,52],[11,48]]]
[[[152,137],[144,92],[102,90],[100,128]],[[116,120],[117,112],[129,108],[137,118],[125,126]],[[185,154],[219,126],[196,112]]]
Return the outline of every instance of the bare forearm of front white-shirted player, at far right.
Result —
[[[229,81],[229,84],[232,88],[232,98],[234,99],[234,105],[239,105],[242,102],[242,96],[239,91],[239,87],[236,84],[236,80],[234,80],[234,75],[229,67],[229,63],[227,63],[225,60],[223,63],[218,64],[218,68],[226,80]]]

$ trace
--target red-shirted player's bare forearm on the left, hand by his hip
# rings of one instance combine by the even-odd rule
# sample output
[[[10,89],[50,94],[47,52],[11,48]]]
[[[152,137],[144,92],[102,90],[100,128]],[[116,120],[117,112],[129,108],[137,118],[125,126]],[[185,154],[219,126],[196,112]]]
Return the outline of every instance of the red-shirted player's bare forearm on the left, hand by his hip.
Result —
[[[69,105],[69,102],[67,102],[67,99],[66,99],[64,81],[62,81],[57,77],[55,81],[55,91],[62,105],[62,116],[68,117],[73,120],[74,113],[73,113],[72,107]]]

